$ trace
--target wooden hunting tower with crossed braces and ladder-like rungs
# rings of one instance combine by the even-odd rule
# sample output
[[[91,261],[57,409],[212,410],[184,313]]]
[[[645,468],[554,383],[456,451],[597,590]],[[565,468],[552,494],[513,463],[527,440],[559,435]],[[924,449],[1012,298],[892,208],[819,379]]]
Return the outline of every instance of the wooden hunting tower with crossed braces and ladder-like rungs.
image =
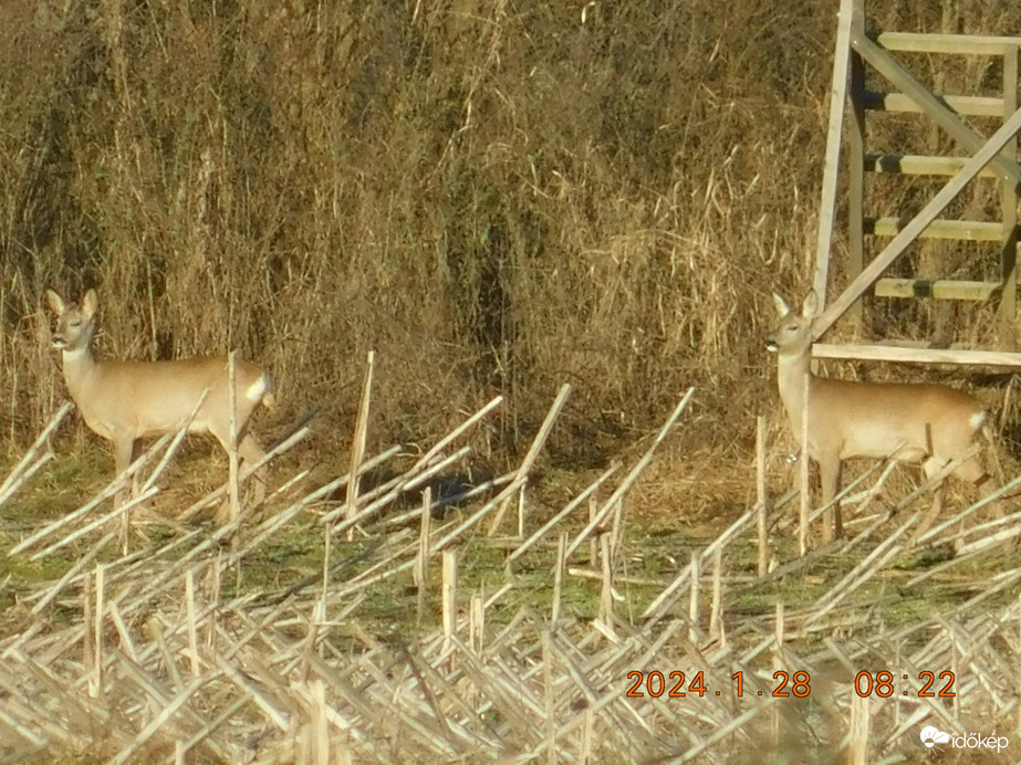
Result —
[[[869,39],[865,32],[864,0],[841,0],[836,56],[830,102],[826,165],[823,176],[814,286],[825,306],[815,327],[819,338],[848,310],[859,311],[859,297],[873,289],[877,297],[931,297],[989,301],[998,306],[999,349],[939,349],[878,343],[873,345],[815,344],[822,358],[882,359],[893,361],[979,364],[1021,367],[1015,348],[1018,290],[1018,202],[1021,166],[1018,140],[1021,111],[1018,108],[1018,57],[1021,38],[962,34],[883,32]],[[977,96],[934,94],[900,63],[896,54],[980,55],[1002,57],[1002,95]],[[866,90],[866,67],[884,82],[883,90]],[[850,113],[845,120],[845,105]],[[936,123],[968,156],[921,156],[869,153],[866,120],[876,111],[917,113],[919,120]],[[962,117],[994,117],[999,128],[988,138]],[[842,132],[846,133],[848,188],[848,283],[827,304],[837,171],[841,165]],[[910,218],[876,217],[865,199],[865,174],[948,178],[946,185]],[[976,177],[994,179],[999,197],[999,220],[948,220],[940,213]],[[988,216],[987,216],[988,217]],[[889,238],[868,263],[864,262],[866,237]],[[918,238],[987,242],[998,248],[1000,273],[996,281],[951,281],[882,277],[884,271]]]

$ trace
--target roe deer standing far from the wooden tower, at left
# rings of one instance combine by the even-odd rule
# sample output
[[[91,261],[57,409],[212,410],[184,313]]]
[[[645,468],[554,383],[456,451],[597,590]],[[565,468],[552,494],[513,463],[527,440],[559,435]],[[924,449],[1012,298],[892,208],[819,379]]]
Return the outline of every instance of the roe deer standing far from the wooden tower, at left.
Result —
[[[80,304],[64,303],[53,290],[46,291],[46,301],[56,314],[53,345],[63,352],[67,390],[85,425],[113,442],[117,475],[142,453],[140,439],[180,428],[207,388],[206,400],[188,430],[212,433],[225,450],[230,449],[226,356],[176,361],[97,361],[92,353],[98,305],[95,290],[86,292]],[[248,425],[256,407],[273,405],[273,381],[254,364],[238,360],[235,386],[238,457],[254,464],[264,452],[248,432]],[[265,486],[261,475],[256,479],[256,502],[260,503]],[[122,494],[115,499],[117,506],[123,501]]]

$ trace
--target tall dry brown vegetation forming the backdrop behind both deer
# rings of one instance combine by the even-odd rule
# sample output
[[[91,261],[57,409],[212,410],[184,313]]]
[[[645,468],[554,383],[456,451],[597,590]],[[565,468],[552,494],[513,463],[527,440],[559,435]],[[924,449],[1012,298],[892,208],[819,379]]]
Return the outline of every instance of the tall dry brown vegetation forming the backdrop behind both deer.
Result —
[[[772,412],[773,433],[782,422],[762,337],[770,291],[800,293],[814,263],[835,10],[819,0],[6,3],[6,451],[23,451],[65,397],[45,289],[95,286],[101,354],[240,348],[277,377],[279,413],[258,426],[271,434],[322,406],[302,463],[346,465],[369,350],[367,453],[425,450],[502,395],[469,437],[498,472],[520,463],[565,381],[574,392],[536,470],[633,455],[695,386],[688,426],[650,468],[633,517],[697,515],[719,533],[754,497],[754,415]],[[1021,28],[1021,7],[978,0],[868,12],[874,28]],[[948,92],[999,83],[984,61],[909,63]],[[881,122],[871,140],[947,148],[915,119]],[[893,214],[926,189],[877,179],[871,190]],[[957,212],[981,217],[987,191],[976,184]],[[996,266],[992,253],[960,252],[918,247],[915,271],[979,279]],[[837,264],[842,253],[837,235]],[[873,315],[884,334],[966,343],[992,325],[989,306],[918,302]],[[1000,406],[1004,390],[992,380],[979,395]],[[779,489],[788,476],[773,479]]]

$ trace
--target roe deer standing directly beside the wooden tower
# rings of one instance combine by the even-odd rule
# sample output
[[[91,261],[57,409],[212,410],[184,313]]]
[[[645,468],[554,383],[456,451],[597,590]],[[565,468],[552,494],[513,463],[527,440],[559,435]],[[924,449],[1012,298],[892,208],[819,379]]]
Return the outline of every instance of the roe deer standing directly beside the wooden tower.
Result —
[[[804,298],[800,315],[775,293],[773,302],[780,323],[767,339],[767,347],[777,353],[780,398],[799,441],[805,375],[809,376],[809,457],[819,464],[824,504],[840,493],[842,460],[869,457],[921,462],[931,478],[963,455],[988,427],[986,411],[978,401],[942,385],[858,382],[812,375],[812,324],[819,307],[815,292]],[[986,484],[988,479],[977,455],[965,460],[954,474],[977,485]],[[916,538],[938,513],[937,492]],[[844,533],[840,504],[834,503],[824,525],[825,542],[832,541],[831,516],[836,536]]]

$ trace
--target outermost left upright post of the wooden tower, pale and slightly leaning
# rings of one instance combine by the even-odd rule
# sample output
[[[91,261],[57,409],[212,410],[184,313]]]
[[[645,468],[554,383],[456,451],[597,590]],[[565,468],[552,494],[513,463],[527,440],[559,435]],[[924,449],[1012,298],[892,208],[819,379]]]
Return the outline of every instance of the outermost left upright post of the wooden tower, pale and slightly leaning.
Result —
[[[844,125],[844,101],[847,97],[847,74],[851,60],[851,20],[855,0],[841,0],[836,27],[836,50],[833,55],[833,82],[830,85],[830,127],[826,130],[826,165],[823,168],[822,199],[819,205],[819,231],[815,239],[815,294],[820,305],[826,304],[830,280],[830,245],[833,240],[833,218],[836,212],[836,181],[841,165],[841,130]]]

